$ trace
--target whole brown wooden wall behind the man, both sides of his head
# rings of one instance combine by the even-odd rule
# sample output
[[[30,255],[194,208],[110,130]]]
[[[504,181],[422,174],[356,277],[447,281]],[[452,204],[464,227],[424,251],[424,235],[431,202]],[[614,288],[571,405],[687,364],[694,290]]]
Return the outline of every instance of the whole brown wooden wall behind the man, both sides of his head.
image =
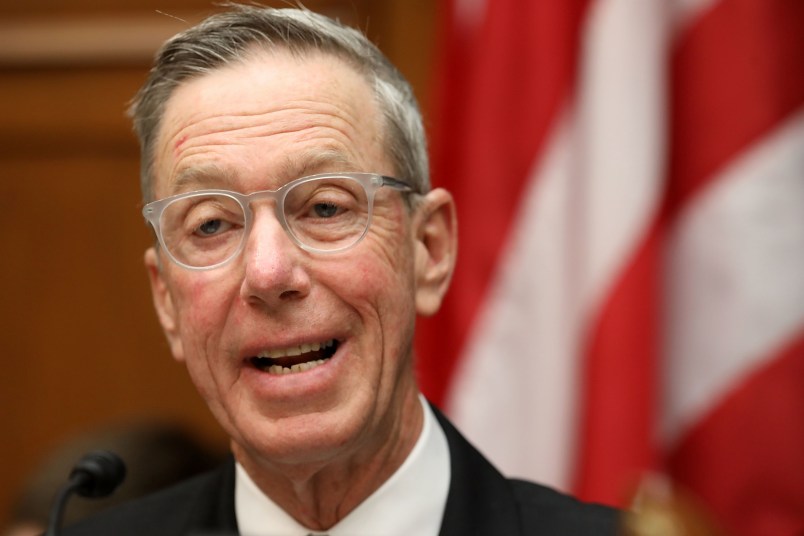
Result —
[[[434,2],[305,4],[368,28],[426,108]],[[124,116],[156,43],[174,31],[154,10],[198,18],[211,5],[0,1],[0,527],[31,468],[102,424],[170,419],[225,442],[150,303],[151,236]]]

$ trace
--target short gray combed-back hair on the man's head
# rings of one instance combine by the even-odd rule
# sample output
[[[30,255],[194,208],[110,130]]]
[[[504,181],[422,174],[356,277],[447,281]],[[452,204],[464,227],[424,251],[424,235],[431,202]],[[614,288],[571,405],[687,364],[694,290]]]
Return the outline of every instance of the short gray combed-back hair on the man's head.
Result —
[[[187,80],[242,60],[254,48],[304,57],[323,52],[343,59],[366,77],[385,119],[386,150],[397,178],[416,192],[430,189],[427,142],[410,84],[361,32],[306,9],[229,4],[197,26],[169,39],[157,52],[148,79],[129,108],[141,147],[145,202],[154,198],[154,152],[165,104]]]

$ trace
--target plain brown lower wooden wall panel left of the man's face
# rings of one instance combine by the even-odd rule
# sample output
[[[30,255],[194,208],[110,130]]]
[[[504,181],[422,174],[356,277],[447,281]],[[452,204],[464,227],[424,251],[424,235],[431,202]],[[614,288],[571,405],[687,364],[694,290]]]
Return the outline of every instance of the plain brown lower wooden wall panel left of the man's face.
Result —
[[[170,419],[217,439],[151,309],[136,161],[6,157],[2,168],[2,493],[62,440],[104,423]]]

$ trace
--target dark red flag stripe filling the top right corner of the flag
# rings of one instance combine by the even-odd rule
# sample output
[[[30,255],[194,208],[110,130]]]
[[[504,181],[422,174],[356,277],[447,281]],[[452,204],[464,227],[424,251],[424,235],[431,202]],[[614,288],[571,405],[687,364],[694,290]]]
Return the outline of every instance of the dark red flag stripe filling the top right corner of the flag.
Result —
[[[670,201],[690,197],[804,103],[804,2],[722,0],[672,61]]]

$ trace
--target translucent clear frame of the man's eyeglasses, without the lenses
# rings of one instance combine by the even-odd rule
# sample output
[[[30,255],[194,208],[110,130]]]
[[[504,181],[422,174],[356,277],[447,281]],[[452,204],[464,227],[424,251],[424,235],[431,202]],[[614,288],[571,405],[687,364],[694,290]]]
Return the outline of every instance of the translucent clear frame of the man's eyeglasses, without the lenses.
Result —
[[[357,237],[357,239],[354,242],[352,242],[347,246],[331,250],[314,248],[312,246],[304,244],[301,240],[299,240],[299,238],[294,234],[294,232],[288,225],[287,219],[285,218],[285,208],[284,208],[285,198],[287,197],[288,192],[291,191],[293,188],[307,182],[327,178],[344,178],[356,181],[363,187],[364,191],[366,192],[366,201],[368,203],[367,207],[368,216],[366,218],[366,228],[363,229],[363,232],[360,234],[360,236]],[[142,215],[145,218],[145,221],[151,225],[151,228],[154,230],[154,233],[156,234],[157,241],[162,246],[162,249],[165,251],[165,253],[167,254],[168,258],[171,261],[187,270],[193,270],[193,271],[212,270],[228,264],[229,262],[236,259],[243,252],[243,249],[247,242],[246,238],[251,232],[251,226],[254,221],[254,213],[253,210],[251,209],[251,204],[255,201],[262,199],[273,199],[274,214],[276,215],[276,219],[279,221],[279,224],[285,230],[285,233],[291,238],[293,243],[295,243],[298,247],[300,247],[305,251],[309,251],[311,253],[316,254],[328,255],[332,253],[340,253],[348,249],[351,249],[357,244],[359,244],[366,237],[366,234],[368,234],[368,230],[371,227],[371,220],[374,214],[374,196],[377,193],[377,190],[379,190],[383,186],[388,186],[389,188],[393,188],[394,190],[397,190],[401,193],[415,192],[414,188],[410,184],[401,181],[399,179],[395,179],[394,177],[381,175],[379,173],[358,173],[358,172],[317,173],[315,175],[308,175],[305,177],[294,179],[282,185],[281,187],[277,188],[276,190],[259,190],[256,192],[252,192],[250,194],[241,194],[240,192],[235,192],[232,190],[221,190],[221,189],[204,189],[204,190],[193,190],[190,192],[183,192],[180,194],[171,195],[147,203],[145,206],[142,207]],[[168,206],[172,205],[173,203],[181,201],[182,199],[201,197],[205,195],[224,195],[233,199],[235,202],[237,202],[238,205],[240,205],[240,208],[243,210],[243,216],[245,218],[243,222],[243,238],[240,240],[240,245],[238,245],[237,249],[226,259],[218,263],[212,264],[210,266],[191,266],[177,259],[165,244],[164,237],[162,236],[161,219],[165,209]]]

